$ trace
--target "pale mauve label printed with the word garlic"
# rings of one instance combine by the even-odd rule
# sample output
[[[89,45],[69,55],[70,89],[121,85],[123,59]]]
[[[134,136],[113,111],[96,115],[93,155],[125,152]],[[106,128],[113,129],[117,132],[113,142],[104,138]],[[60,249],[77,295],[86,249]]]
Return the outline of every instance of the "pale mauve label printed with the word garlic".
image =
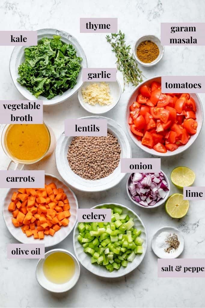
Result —
[[[116,68],[82,68],[82,81],[116,81]]]

